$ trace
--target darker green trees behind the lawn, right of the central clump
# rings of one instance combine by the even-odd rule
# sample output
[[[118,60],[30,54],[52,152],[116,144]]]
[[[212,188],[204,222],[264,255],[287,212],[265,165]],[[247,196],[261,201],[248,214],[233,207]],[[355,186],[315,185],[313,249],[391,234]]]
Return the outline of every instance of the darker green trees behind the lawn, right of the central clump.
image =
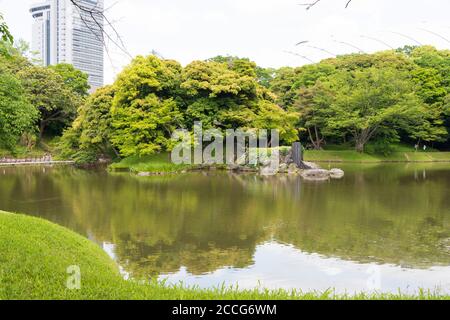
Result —
[[[368,143],[388,152],[393,142],[448,146],[450,51],[407,47],[353,54],[276,72],[277,103],[300,113],[303,141]]]

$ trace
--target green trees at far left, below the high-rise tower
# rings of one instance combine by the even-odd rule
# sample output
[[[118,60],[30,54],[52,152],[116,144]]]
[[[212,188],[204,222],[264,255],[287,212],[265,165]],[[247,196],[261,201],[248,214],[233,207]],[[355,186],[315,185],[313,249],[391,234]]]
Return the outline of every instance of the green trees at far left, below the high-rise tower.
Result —
[[[31,149],[44,135],[61,135],[89,89],[86,74],[67,64],[33,65],[18,45],[0,41],[0,148],[12,154],[19,144]]]

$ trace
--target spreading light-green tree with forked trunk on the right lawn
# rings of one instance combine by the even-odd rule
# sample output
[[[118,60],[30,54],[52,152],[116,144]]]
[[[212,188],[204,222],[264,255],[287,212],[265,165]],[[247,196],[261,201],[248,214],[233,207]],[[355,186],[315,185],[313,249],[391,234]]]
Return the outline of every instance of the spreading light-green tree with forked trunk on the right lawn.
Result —
[[[436,114],[422,116],[426,111],[423,102],[415,95],[406,74],[397,70],[371,67],[340,72],[327,85],[335,92],[327,124],[332,129],[347,130],[359,152],[380,133],[396,137],[410,123],[424,130],[439,124]],[[439,135],[439,131],[434,134]],[[421,135],[425,139],[429,134],[430,130],[425,130]]]

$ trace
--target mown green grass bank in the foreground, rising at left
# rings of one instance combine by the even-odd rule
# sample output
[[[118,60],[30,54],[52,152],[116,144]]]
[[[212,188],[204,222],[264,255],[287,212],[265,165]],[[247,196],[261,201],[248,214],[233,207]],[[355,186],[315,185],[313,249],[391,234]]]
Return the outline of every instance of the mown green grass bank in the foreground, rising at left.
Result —
[[[96,244],[50,222],[0,211],[0,299],[450,299],[435,293],[335,296],[299,291],[201,290],[123,280]],[[78,266],[81,288],[66,286],[67,268]]]

